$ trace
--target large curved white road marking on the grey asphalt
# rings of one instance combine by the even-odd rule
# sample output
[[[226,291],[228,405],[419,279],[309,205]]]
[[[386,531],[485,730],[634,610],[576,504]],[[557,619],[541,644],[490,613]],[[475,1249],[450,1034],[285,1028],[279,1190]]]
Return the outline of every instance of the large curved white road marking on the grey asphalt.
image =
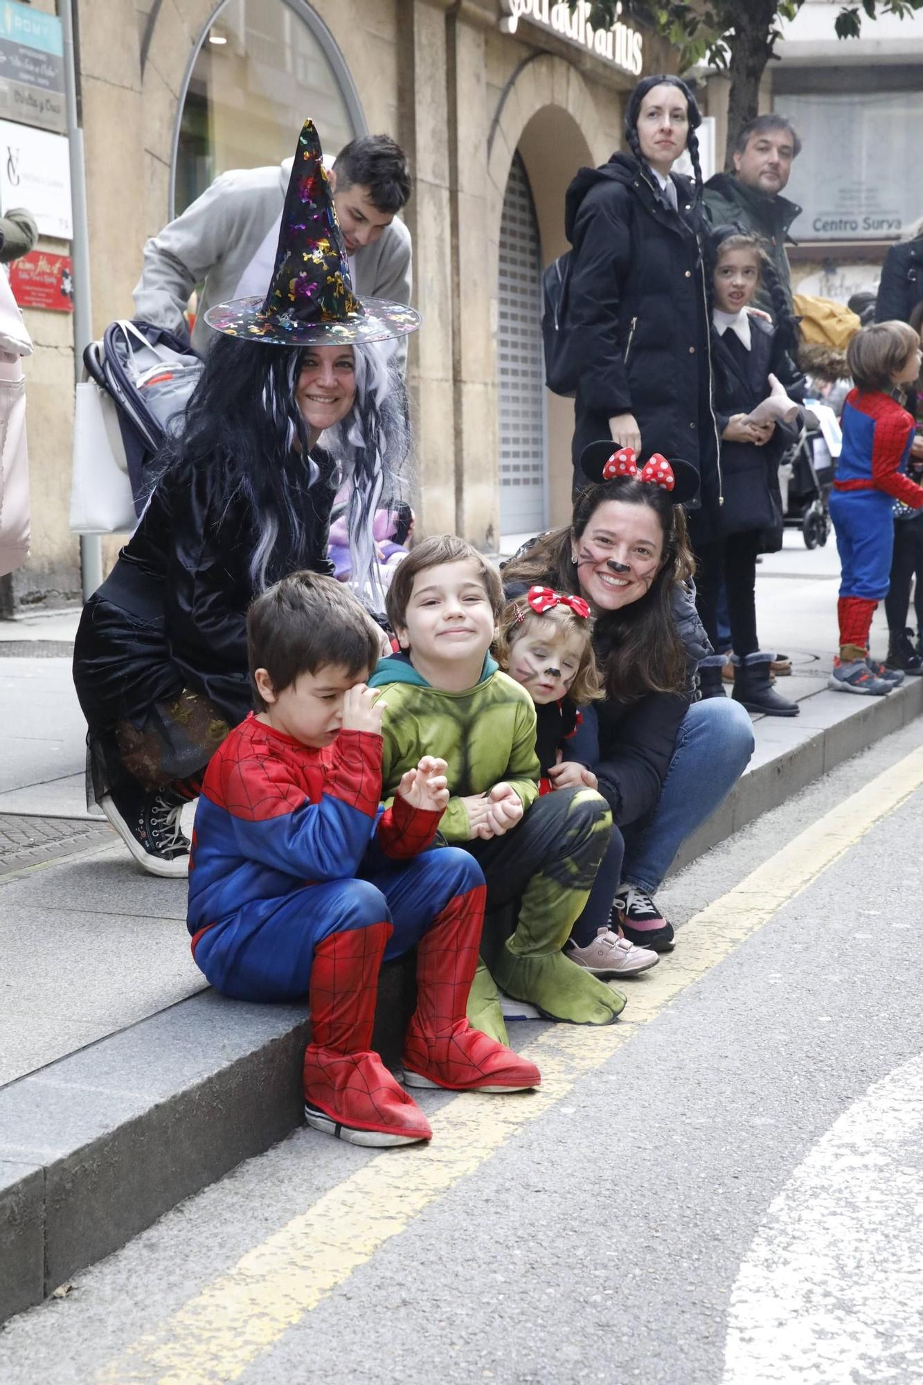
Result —
[[[735,1284],[722,1385],[923,1379],[923,1054],[834,1122]]]

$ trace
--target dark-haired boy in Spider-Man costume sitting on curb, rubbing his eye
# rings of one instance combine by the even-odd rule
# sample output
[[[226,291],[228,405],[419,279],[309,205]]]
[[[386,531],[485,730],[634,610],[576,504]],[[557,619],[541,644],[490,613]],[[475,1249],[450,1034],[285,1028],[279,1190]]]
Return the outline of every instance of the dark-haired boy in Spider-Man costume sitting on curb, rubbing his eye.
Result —
[[[381,963],[417,949],[403,1047],[410,1087],[520,1091],[538,1069],[468,1026],[484,874],[427,850],[448,803],[445,762],[424,755],[381,810],[381,713],[364,680],[380,632],[333,578],[297,572],[248,620],[258,711],[212,758],[195,813],[193,956],[238,1000],[308,996],[305,1116],[363,1145],[432,1132],[370,1051]]]

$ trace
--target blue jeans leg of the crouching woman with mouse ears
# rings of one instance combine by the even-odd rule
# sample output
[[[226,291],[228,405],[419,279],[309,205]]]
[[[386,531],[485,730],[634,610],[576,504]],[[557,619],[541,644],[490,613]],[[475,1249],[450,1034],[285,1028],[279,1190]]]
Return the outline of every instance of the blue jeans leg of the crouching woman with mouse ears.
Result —
[[[638,885],[647,895],[657,892],[682,843],[728,798],[753,748],[753,723],[739,702],[693,702],[679,724],[656,807],[622,830],[622,884]]]

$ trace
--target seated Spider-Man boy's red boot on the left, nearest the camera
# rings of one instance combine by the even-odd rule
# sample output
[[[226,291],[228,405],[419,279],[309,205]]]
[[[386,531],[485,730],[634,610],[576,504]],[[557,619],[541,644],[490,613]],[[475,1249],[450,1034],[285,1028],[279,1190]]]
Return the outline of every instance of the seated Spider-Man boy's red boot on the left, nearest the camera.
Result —
[[[305,1048],[305,1119],[351,1144],[431,1140],[420,1107],[370,1053],[378,968],[391,924],[324,938],[310,965],[312,1042]]]

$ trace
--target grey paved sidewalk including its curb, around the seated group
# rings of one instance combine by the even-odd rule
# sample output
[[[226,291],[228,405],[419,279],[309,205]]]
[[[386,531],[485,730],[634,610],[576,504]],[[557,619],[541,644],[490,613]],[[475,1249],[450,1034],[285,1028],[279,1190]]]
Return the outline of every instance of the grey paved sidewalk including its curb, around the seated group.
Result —
[[[676,868],[923,712],[923,679],[881,699],[827,690],[836,553],[786,539],[759,569],[759,627],[793,658],[780,691],[801,715],[755,720],[751,766]],[[299,1119],[304,1010],[206,990],[184,885],[139,874],[87,812],[75,626],[73,612],[0,623],[0,1320]],[[385,1053],[410,996],[395,964]]]

